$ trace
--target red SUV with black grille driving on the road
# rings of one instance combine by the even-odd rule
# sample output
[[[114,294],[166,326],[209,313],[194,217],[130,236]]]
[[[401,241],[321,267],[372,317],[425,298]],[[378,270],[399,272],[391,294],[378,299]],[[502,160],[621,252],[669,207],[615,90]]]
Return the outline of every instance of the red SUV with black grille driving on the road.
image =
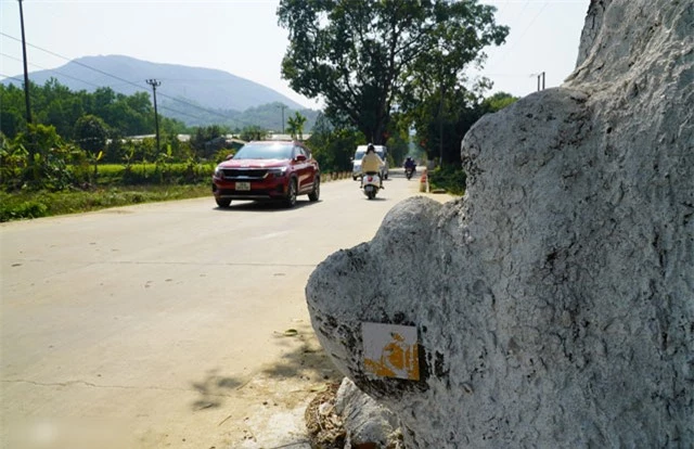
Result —
[[[297,141],[248,142],[213,175],[219,207],[229,207],[232,200],[280,200],[292,207],[297,195],[318,201],[320,185],[318,162]]]

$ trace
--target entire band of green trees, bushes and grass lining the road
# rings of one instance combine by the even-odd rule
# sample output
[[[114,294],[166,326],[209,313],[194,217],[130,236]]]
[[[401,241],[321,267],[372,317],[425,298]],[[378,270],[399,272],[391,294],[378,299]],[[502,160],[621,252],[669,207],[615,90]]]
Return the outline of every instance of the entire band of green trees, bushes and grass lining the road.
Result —
[[[372,142],[388,146],[391,166],[407,156],[433,162],[432,185],[462,194],[463,136],[517,100],[487,97],[491,84],[465,75],[484,63],[485,48],[505,40],[493,13],[474,2],[281,0],[279,23],[291,36],[282,76],[325,104],[316,117],[290,114],[282,130],[306,141],[323,175],[350,170],[355,147]],[[189,127],[163,116],[155,139],[143,137],[156,128],[147,92],[74,92],[55,79],[29,82],[28,91],[30,120],[24,90],[0,85],[0,221],[208,195],[215,165],[271,132],[257,123]],[[280,106],[248,117],[270,119]]]

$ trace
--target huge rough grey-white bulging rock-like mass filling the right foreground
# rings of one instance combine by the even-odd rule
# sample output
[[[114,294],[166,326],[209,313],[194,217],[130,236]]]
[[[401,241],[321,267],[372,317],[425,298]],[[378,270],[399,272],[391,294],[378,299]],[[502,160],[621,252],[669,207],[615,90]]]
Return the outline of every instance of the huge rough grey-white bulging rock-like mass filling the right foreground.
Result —
[[[406,447],[694,445],[693,29],[692,0],[591,1],[570,79],[465,137],[463,200],[312,273],[321,344]],[[362,322],[416,326],[419,382],[364,371]]]

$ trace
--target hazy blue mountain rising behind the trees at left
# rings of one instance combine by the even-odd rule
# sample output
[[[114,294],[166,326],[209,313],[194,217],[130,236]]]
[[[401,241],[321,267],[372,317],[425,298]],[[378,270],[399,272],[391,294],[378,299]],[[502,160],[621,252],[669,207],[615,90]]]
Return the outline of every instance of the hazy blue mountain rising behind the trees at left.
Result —
[[[14,78],[5,78],[0,82],[20,86],[18,80],[23,76]],[[162,115],[187,125],[227,124],[243,127],[250,124],[244,117],[244,111],[273,103],[287,106],[285,118],[293,111],[300,111],[305,116],[305,112],[310,111],[275,90],[223,70],[152,63],[123,55],[85,56],[55,69],[29,73],[29,79],[40,86],[50,78],[55,78],[73,91],[92,92],[100,87],[110,87],[126,95],[138,91],[152,93],[146,80],[156,79],[160,81],[156,97]],[[280,104],[272,107],[280,111]],[[281,127],[280,114],[278,112],[274,125],[254,124],[266,128]]]

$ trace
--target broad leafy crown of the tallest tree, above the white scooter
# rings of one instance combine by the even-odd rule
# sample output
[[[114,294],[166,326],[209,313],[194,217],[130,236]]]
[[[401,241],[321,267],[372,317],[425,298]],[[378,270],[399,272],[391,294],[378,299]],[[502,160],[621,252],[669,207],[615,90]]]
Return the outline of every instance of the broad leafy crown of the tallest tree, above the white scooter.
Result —
[[[507,28],[494,24],[494,11],[475,0],[281,0],[280,25],[290,31],[282,76],[295,91],[322,97],[333,120],[384,143],[414,68],[439,69],[424,65],[432,48],[455,53],[462,69],[503,42]]]

